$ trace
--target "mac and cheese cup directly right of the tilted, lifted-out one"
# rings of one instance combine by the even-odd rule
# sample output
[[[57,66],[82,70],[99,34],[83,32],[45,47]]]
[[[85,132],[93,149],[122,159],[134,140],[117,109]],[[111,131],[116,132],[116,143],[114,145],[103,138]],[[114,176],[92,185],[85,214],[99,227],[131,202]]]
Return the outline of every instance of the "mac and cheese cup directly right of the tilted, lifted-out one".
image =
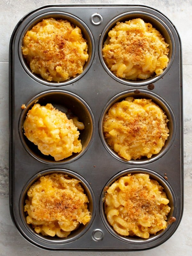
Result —
[[[108,145],[129,161],[158,154],[169,136],[168,119],[150,99],[127,97],[113,104],[103,120]]]

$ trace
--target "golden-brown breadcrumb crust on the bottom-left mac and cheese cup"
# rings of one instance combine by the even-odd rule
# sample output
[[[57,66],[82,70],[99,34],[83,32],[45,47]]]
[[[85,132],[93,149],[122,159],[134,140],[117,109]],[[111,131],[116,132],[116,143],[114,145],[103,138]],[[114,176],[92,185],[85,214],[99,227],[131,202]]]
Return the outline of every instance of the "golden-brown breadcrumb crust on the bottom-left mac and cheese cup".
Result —
[[[65,179],[65,183],[60,182],[60,177]],[[75,220],[78,219],[78,216],[81,216],[84,203],[87,203],[88,199],[83,194],[83,188],[78,180],[69,180],[67,176],[62,174],[52,174],[45,176],[45,178],[40,178],[40,182],[37,182],[37,184],[39,184],[42,190],[36,189],[33,186],[28,191],[28,195],[33,196],[34,200],[37,199],[38,201],[30,207],[36,220],[62,221],[64,218],[69,217],[71,220]],[[79,195],[67,189],[72,188],[73,184],[75,184],[77,191],[79,191]],[[45,185],[48,187],[45,188]],[[48,191],[49,187],[50,191]]]

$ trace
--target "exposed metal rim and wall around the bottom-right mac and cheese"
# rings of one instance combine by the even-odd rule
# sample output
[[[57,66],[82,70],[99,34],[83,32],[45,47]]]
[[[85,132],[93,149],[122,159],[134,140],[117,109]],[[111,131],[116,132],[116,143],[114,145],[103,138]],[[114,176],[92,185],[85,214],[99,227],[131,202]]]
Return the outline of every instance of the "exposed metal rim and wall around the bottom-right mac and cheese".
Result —
[[[132,169],[127,169],[124,170],[122,172],[117,173],[114,177],[112,177],[107,184],[105,185],[105,187],[103,188],[103,191],[101,193],[101,197],[100,197],[100,215],[101,215],[101,219],[103,220],[103,223],[105,225],[105,227],[108,229],[108,231],[115,236],[116,238],[127,242],[127,243],[131,243],[131,244],[146,244],[149,242],[153,242],[154,240],[160,238],[160,240],[162,241],[162,237],[164,236],[164,234],[166,234],[166,232],[169,231],[169,229],[171,228],[172,225],[167,225],[167,228],[165,228],[164,230],[160,230],[156,233],[156,235],[150,235],[149,238],[141,238],[139,236],[122,236],[119,235],[114,229],[113,227],[108,223],[106,214],[105,214],[105,209],[104,209],[104,198],[105,198],[105,193],[108,189],[108,187],[110,187],[112,185],[112,183],[114,183],[116,180],[118,180],[120,177],[126,176],[127,174],[134,174],[134,173],[145,173],[145,174],[149,174],[149,178],[152,180],[156,180],[160,186],[163,187],[163,191],[166,193],[167,198],[169,199],[169,207],[171,208],[169,214],[167,215],[167,222],[171,223],[171,218],[175,216],[176,214],[176,209],[177,209],[177,202],[176,202],[176,197],[175,194],[171,188],[171,186],[169,185],[169,183],[164,180],[164,178],[162,178],[159,174],[157,174],[154,171],[148,170],[148,169],[142,169],[142,168],[132,168]],[[161,243],[161,242],[160,242]]]

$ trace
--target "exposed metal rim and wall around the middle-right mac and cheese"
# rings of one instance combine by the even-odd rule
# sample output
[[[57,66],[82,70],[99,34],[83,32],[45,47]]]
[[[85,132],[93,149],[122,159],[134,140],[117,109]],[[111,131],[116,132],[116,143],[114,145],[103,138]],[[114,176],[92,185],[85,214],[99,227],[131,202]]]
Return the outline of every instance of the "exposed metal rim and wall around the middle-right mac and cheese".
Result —
[[[137,91],[137,93],[136,93]],[[138,93],[139,92],[139,93]],[[151,99],[154,103],[156,103],[156,105],[158,105],[166,114],[167,119],[169,120],[169,122],[167,123],[167,126],[169,128],[169,136],[167,138],[167,140],[165,141],[164,147],[161,149],[161,151],[156,154],[156,155],[152,155],[151,158],[147,158],[147,157],[143,157],[141,159],[136,159],[136,160],[126,160],[122,157],[120,157],[107,143],[105,137],[104,137],[104,132],[103,132],[103,120],[104,117],[106,115],[106,113],[108,112],[108,109],[115,104],[116,102],[120,102],[122,100],[124,100],[126,97],[133,97],[134,99]],[[114,96],[111,100],[109,100],[109,102],[107,103],[107,105],[105,106],[105,108],[103,109],[101,115],[100,115],[100,121],[99,121],[99,133],[100,133],[100,138],[101,141],[104,145],[104,147],[108,150],[108,152],[115,157],[117,160],[122,161],[124,163],[127,164],[148,164],[151,163],[157,159],[159,159],[160,157],[162,157],[167,151],[168,149],[171,147],[172,142],[174,140],[175,137],[175,130],[176,130],[176,123],[175,123],[175,117],[173,115],[173,112],[171,110],[171,108],[169,107],[169,105],[158,95],[156,95],[153,92],[148,92],[145,90],[129,90],[129,91],[125,91],[125,92],[121,92],[119,94],[117,94],[116,96]]]

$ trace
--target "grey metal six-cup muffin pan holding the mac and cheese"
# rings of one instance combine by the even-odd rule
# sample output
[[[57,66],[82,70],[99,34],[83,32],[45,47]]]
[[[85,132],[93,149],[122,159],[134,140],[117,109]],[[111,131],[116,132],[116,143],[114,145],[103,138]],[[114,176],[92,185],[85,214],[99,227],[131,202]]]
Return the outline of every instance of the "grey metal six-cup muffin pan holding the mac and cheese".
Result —
[[[45,18],[69,20],[81,28],[87,40],[89,60],[79,76],[54,83],[32,74],[22,56],[23,36]],[[118,79],[105,65],[102,44],[117,21],[142,18],[152,23],[169,44],[169,63],[162,75],[144,81]],[[10,212],[19,233],[31,244],[47,250],[144,250],[169,239],[180,224],[183,212],[183,123],[182,60],[180,37],[161,12],[143,5],[48,5],[24,16],[10,40]],[[102,132],[108,108],[127,96],[152,99],[166,113],[170,136],[161,152],[150,159],[125,161],[111,150]],[[84,122],[80,131],[82,152],[61,160],[44,156],[23,135],[28,110],[38,103],[68,109]],[[21,109],[22,104],[26,105]],[[63,238],[44,237],[26,223],[24,201],[27,189],[41,175],[62,172],[81,181],[89,197],[91,221]],[[168,220],[176,221],[148,239],[122,237],[108,225],[104,210],[105,188],[127,173],[148,173],[163,187],[170,200]]]

